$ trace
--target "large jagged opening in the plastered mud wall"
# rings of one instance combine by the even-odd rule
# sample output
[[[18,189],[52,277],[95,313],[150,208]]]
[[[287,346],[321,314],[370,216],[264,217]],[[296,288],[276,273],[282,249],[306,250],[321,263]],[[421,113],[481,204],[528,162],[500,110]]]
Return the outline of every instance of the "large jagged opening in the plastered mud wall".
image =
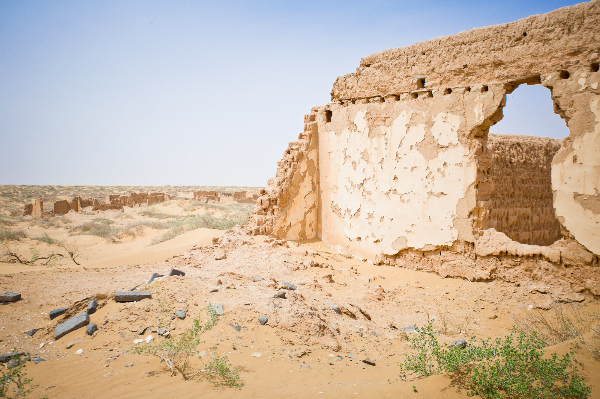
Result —
[[[484,224],[520,243],[548,246],[562,238],[551,164],[569,130],[553,112],[550,90],[539,84],[517,87],[506,96],[502,111],[503,119],[487,138],[491,162],[488,198],[482,198],[489,210]]]

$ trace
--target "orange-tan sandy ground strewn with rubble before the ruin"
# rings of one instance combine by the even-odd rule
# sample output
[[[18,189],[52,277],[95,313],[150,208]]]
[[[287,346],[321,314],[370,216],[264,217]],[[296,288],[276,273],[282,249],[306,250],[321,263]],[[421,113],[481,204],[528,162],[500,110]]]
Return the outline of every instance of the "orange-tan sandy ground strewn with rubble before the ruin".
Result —
[[[172,202],[161,211],[177,215],[189,206]],[[118,223],[131,220],[116,213],[101,216]],[[67,217],[73,219],[73,225],[98,215]],[[132,219],[140,217],[132,212]],[[442,279],[437,274],[345,258],[317,240],[298,246],[289,243],[288,248],[259,236],[244,238],[245,244],[219,246],[212,244],[212,237],[223,231],[200,228],[148,246],[161,231],[145,227],[143,234],[135,237],[106,240],[69,236],[60,226],[20,223],[28,226],[30,237],[14,243],[23,253],[45,246],[31,240],[45,232],[56,239],[77,240],[86,255],[80,265],[63,261],[52,268],[0,264],[0,291],[20,292],[23,297],[0,306],[0,353],[16,347],[46,360],[26,366],[28,377],[34,379],[32,398],[163,398],[174,394],[178,398],[467,397],[460,376],[397,379],[397,362],[410,350],[400,328],[425,325],[429,318],[443,331],[442,342],[497,337],[511,327],[512,314],[525,313],[530,304],[544,306],[550,300],[504,282]],[[225,258],[217,260],[223,252]],[[167,274],[170,268],[185,271],[185,276],[144,283],[152,273]],[[266,282],[253,282],[253,277]],[[274,298],[283,281],[297,289],[287,291],[286,298]],[[115,291],[140,284],[137,289],[149,289],[152,299],[113,301]],[[209,292],[212,289],[217,291]],[[89,336],[81,328],[53,340],[56,325],[71,314],[51,321],[50,310],[93,295],[100,298],[100,309],[90,316],[90,322],[98,325],[97,333]],[[215,388],[202,374],[189,381],[180,374],[170,377],[157,358],[132,353],[135,339],[156,336],[138,332],[156,325],[157,298],[167,304],[169,314],[187,312],[185,320],[170,322],[174,336],[194,317],[205,319],[209,303],[223,304],[224,315],[203,335],[205,342],[197,350],[209,352],[216,346],[220,354],[227,355],[239,369],[243,388]],[[326,302],[344,313],[338,315]],[[594,298],[586,298],[584,307],[599,308]],[[266,325],[259,323],[259,316],[268,318]],[[440,316],[445,316],[445,326]],[[230,324],[239,325],[240,331]],[[32,337],[23,333],[32,328],[43,330]],[[550,350],[565,353],[568,347]],[[75,353],[78,349],[83,349],[81,355]],[[600,397],[600,364],[586,357],[585,348],[582,353],[583,373],[596,386],[591,397]],[[362,362],[367,357],[376,365]],[[193,356],[191,369],[200,370],[207,359]],[[125,367],[129,362],[133,367]],[[413,385],[418,392],[413,392]]]

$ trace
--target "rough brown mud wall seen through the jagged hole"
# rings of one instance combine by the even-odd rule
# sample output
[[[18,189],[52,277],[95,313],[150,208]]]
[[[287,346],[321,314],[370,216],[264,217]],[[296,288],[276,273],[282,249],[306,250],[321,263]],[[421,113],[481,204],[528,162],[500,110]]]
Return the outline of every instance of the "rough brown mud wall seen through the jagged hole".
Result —
[[[550,179],[561,144],[548,137],[488,134],[493,186],[484,228],[495,228],[523,244],[549,246],[562,238]]]

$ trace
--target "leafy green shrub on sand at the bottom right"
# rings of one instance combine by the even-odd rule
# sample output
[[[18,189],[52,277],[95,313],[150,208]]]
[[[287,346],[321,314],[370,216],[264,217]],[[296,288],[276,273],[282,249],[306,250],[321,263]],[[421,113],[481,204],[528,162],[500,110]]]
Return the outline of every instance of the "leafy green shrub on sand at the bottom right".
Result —
[[[433,321],[409,338],[412,352],[398,362],[400,377],[452,373],[469,396],[483,398],[587,398],[592,390],[579,373],[576,350],[544,358],[546,343],[535,331],[514,327],[505,337],[440,345]]]

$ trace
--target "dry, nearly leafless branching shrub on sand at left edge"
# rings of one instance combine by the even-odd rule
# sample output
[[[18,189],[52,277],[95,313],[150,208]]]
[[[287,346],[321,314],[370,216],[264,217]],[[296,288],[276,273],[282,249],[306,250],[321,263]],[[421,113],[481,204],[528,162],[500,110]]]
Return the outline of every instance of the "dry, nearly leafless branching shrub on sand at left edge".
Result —
[[[37,249],[29,249],[31,257],[20,255],[8,243],[0,242],[0,262],[19,263],[22,265],[46,265],[53,267],[61,259],[70,259],[74,264],[79,265],[77,259],[83,258],[79,247],[76,244],[68,244],[63,241],[54,240],[44,234],[42,237],[35,238],[47,244],[48,250],[40,252]]]

